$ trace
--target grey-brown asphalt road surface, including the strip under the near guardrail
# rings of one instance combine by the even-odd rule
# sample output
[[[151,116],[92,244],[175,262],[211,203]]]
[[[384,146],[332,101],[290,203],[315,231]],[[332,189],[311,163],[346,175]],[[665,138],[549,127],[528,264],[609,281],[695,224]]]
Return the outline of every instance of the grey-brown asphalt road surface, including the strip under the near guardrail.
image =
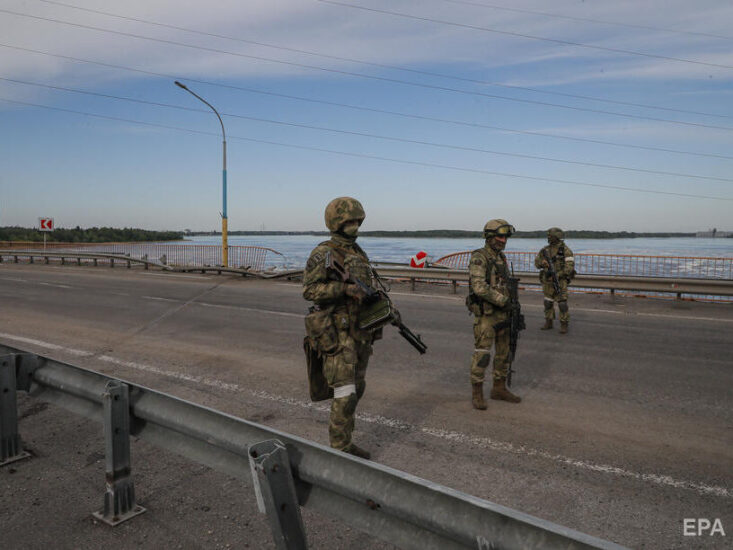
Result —
[[[465,290],[464,290],[465,292]],[[733,306],[571,295],[570,334],[527,330],[513,390],[471,408],[462,295],[394,285],[404,322],[377,342],[355,441],[373,459],[633,548],[730,548]],[[0,265],[0,342],[130,380],[327,444],[302,357],[297,282],[108,267]],[[143,441],[132,447],[147,513],[111,529],[101,424],[20,394],[34,455],[0,469],[2,547],[270,548],[249,486]],[[685,519],[719,525],[686,536]],[[304,510],[313,548],[389,548]],[[704,522],[703,522],[704,525]]]

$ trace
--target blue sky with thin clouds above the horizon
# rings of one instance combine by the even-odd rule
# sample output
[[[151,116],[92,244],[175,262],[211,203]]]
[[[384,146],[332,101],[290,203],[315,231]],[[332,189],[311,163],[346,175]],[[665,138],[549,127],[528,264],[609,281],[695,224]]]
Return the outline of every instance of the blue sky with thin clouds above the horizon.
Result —
[[[733,2],[0,1],[0,226],[733,231]]]

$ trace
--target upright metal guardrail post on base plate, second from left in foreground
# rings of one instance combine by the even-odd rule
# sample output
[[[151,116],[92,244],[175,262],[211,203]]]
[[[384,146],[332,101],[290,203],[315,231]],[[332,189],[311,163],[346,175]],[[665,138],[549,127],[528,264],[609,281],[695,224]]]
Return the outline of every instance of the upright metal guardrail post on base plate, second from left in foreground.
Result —
[[[135,502],[130,466],[130,393],[127,384],[110,380],[102,394],[106,483],[104,508],[92,515],[108,525],[119,525],[145,512]]]

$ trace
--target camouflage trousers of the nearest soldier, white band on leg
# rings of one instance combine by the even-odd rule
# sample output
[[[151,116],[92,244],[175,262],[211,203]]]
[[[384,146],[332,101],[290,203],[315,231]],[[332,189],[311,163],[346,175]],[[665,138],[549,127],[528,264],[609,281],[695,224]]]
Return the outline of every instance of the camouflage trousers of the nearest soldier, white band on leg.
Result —
[[[328,437],[331,447],[343,450],[351,445],[356,405],[366,389],[366,368],[372,354],[371,342],[355,340],[339,331],[339,346],[323,361],[323,374],[333,388]]]

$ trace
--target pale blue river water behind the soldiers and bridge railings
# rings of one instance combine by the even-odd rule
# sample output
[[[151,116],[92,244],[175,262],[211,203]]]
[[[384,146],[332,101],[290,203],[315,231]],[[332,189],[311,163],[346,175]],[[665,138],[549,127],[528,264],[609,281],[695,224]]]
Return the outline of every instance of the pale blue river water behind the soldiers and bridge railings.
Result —
[[[230,236],[230,246],[263,246],[277,250],[285,257],[286,267],[302,267],[310,251],[325,236],[263,235]],[[190,244],[221,245],[220,236],[189,237]],[[424,250],[431,261],[451,254],[483,246],[482,239],[360,237],[359,244],[372,261],[408,263],[410,256]],[[733,257],[733,238],[637,238],[637,239],[567,239],[574,253],[633,254],[642,256]],[[181,244],[180,241],[176,244]],[[537,252],[545,239],[509,239],[507,251]]]

